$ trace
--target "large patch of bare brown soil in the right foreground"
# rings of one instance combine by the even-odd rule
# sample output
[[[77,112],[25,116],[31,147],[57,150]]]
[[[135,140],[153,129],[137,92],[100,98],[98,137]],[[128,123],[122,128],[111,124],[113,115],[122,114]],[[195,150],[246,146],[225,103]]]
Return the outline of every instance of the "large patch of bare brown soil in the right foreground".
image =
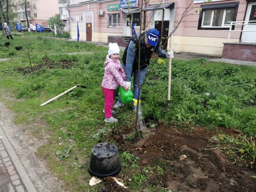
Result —
[[[118,132],[113,133],[113,139],[124,151],[139,156],[140,166],[159,165],[164,171],[160,175],[156,169],[152,169],[152,173],[145,175],[148,178],[144,182],[146,185],[164,187],[175,192],[256,191],[256,180],[251,177],[256,175],[255,167],[252,169],[246,166],[238,158],[236,161],[230,159],[224,151],[211,149],[216,145],[210,142],[211,137],[216,135],[214,131],[208,131],[204,127],[177,130],[174,126],[160,124],[155,134],[132,142],[124,138],[124,133],[129,131],[128,127],[119,128]],[[234,137],[239,134],[221,127],[219,132]],[[182,155],[187,158],[180,160]],[[121,171],[118,176],[122,174]]]

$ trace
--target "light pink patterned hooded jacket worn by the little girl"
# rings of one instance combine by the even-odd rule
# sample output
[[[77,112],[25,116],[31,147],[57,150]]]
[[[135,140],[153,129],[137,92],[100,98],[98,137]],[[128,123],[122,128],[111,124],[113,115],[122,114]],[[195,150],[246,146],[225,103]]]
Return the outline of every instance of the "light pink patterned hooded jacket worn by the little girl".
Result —
[[[125,87],[125,72],[120,61],[113,61],[107,55],[104,64],[106,67],[101,86],[106,89],[116,89],[118,85]]]

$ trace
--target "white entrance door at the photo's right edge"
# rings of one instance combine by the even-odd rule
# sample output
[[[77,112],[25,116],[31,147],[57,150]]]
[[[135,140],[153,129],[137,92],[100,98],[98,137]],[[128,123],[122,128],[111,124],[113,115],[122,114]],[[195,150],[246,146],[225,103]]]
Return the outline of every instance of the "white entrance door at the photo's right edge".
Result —
[[[252,22],[248,22],[248,25],[244,25],[244,30],[249,31],[243,32],[242,43],[256,43],[256,3],[249,3],[245,21]]]

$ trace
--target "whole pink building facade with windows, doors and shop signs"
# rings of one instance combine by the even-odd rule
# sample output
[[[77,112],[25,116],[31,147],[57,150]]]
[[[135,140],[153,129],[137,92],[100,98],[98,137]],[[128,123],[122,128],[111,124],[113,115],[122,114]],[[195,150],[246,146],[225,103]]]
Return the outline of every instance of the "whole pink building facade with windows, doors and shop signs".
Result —
[[[160,33],[164,21],[163,33],[169,28],[167,35],[175,29],[177,21],[181,21],[173,33],[173,41],[168,41],[175,52],[221,55],[225,43],[256,46],[256,0],[212,0],[210,3],[166,0],[162,2],[168,5],[164,8],[164,18],[163,9],[159,7],[161,1],[150,0],[142,7],[140,0],[130,2],[131,8],[127,9],[126,0],[69,0],[69,15],[73,18],[70,20],[71,37],[76,36],[77,23],[81,40],[108,42],[110,37],[129,37],[131,28],[127,18],[130,18],[137,33],[140,20],[146,30],[157,28]],[[186,8],[186,17],[182,18]],[[230,25],[231,22],[234,25]]]

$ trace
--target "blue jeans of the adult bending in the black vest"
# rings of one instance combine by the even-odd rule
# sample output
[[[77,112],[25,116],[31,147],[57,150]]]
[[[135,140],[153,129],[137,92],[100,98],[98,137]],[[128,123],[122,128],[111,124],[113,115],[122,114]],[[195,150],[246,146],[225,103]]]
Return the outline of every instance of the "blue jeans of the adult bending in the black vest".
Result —
[[[124,72],[125,72],[126,66],[124,65],[124,63],[122,64],[122,68],[124,69]],[[141,95],[141,91],[142,91],[141,84],[144,81],[147,70],[148,70],[148,67],[146,67],[144,69],[140,69],[140,95]],[[132,74],[133,74],[133,98],[136,100],[139,100],[138,99],[138,94],[139,94],[138,71],[132,70]],[[119,97],[118,97],[118,102],[122,103]],[[134,103],[134,102],[132,101],[132,103]],[[133,108],[134,108],[134,106],[133,106]]]

